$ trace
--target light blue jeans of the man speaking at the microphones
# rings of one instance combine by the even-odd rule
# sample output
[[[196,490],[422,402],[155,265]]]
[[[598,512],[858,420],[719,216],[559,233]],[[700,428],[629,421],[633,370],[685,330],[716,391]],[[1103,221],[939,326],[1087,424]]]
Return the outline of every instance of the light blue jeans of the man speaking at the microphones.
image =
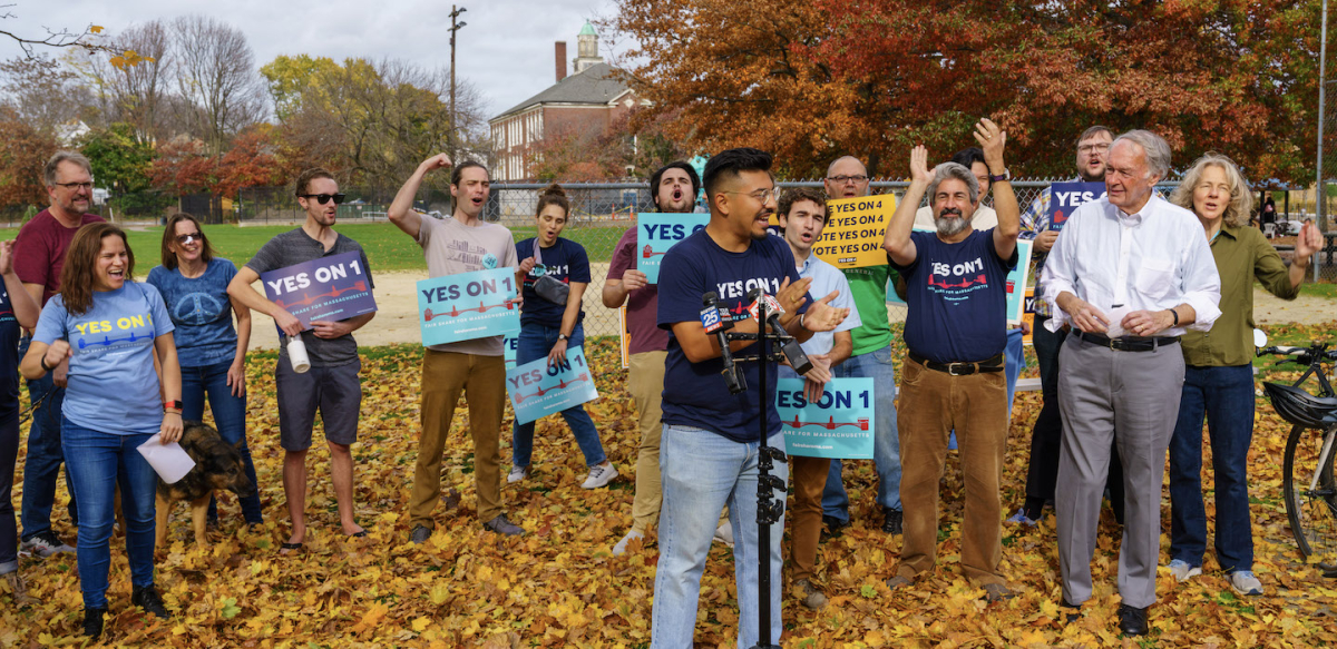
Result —
[[[785,449],[785,435],[767,439]],[[655,602],[651,612],[651,649],[693,646],[701,573],[710,541],[719,523],[719,510],[729,505],[734,531],[734,580],[738,592],[738,646],[757,644],[759,612],[757,562],[757,443],[738,443],[709,430],[664,423],[659,439],[659,473],[663,506],[659,510],[659,565],[655,572]],[[771,475],[789,482],[789,467],[775,462]],[[785,491],[775,490],[783,503]],[[779,642],[779,539],[785,517],[770,527],[770,641]]]

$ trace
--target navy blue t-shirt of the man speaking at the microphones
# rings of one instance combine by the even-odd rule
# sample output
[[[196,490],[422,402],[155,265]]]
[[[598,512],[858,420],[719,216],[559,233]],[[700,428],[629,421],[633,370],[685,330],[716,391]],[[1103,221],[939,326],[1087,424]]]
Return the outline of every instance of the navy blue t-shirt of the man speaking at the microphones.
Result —
[[[735,442],[761,439],[761,410],[766,403],[766,437],[779,433],[779,414],[775,411],[774,363],[766,369],[766,395],[761,394],[758,363],[739,363],[747,381],[747,390],[730,394],[721,371],[722,358],[701,363],[687,361],[682,345],[673,335],[677,322],[701,319],[701,296],[709,291],[719,295],[721,308],[734,319],[747,318],[747,291],[761,286],[770,295],[779,292],[779,284],[789,278],[798,282],[794,255],[778,236],[755,239],[743,252],[729,252],[699,230],[687,236],[664,255],[659,266],[659,329],[667,329],[668,357],[664,361],[663,422],[710,430]],[[808,310],[809,300],[800,307]],[[714,334],[711,334],[714,335]],[[735,358],[755,355],[757,345],[735,351]],[[771,350],[775,346],[771,345]]]

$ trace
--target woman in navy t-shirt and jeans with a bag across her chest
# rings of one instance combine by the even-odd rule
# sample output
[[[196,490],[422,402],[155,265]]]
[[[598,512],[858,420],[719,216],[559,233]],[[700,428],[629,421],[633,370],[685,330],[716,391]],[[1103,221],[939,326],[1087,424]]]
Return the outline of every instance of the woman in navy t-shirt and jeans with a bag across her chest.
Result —
[[[516,256],[523,259],[516,270],[516,283],[523,284],[524,306],[520,310],[520,339],[515,351],[517,366],[547,357],[548,365],[564,363],[567,349],[579,349],[584,343],[584,330],[580,320],[580,296],[590,284],[590,258],[584,247],[570,239],[563,239],[562,228],[567,226],[571,203],[567,194],[556,183],[539,195],[536,224],[539,235],[515,244]],[[567,298],[562,303],[545,299],[535,288],[540,278],[550,276],[566,284]],[[576,435],[576,445],[584,453],[590,475],[580,485],[584,489],[599,489],[618,477],[618,470],[603,454],[599,431],[594,419],[576,405],[562,411],[562,418]],[[533,422],[516,423],[511,433],[511,453],[513,466],[507,482],[520,482],[529,475],[529,455],[533,451]]]

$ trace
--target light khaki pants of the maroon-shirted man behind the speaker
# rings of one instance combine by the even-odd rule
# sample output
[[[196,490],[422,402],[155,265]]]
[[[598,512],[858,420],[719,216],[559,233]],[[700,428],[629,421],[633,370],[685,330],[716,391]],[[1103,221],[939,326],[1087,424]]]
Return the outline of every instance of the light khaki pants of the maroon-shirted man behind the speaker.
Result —
[[[663,499],[659,483],[659,434],[663,430],[660,398],[664,391],[666,351],[642,351],[627,359],[627,391],[640,415],[640,446],[636,449],[636,497],[631,503],[631,529],[647,534],[659,522]]]

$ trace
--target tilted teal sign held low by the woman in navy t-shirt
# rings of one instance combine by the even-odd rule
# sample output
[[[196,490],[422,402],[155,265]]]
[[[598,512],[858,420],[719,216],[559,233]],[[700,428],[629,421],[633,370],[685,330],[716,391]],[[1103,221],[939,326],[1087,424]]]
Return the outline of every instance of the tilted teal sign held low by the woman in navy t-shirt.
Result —
[[[511,395],[516,423],[560,413],[599,398],[594,374],[586,366],[584,350],[567,350],[567,361],[548,365],[548,358],[505,371],[505,391]]]

